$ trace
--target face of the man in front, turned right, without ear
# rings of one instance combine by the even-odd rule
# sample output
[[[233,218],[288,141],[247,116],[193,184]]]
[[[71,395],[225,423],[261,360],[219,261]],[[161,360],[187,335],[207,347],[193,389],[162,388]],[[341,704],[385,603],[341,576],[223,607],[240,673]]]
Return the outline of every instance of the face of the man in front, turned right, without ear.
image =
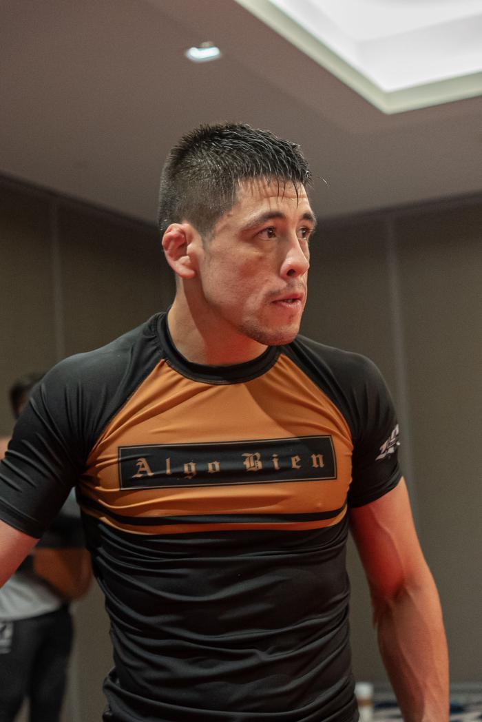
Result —
[[[203,298],[227,334],[279,345],[297,335],[307,298],[308,240],[315,217],[304,188],[240,185],[235,205],[198,254]]]

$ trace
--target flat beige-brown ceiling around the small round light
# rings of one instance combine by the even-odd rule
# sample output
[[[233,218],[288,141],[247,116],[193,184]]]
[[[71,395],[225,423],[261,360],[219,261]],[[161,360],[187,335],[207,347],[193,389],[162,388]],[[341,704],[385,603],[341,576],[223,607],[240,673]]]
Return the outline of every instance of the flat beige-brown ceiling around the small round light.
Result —
[[[115,212],[224,120],[302,145],[320,217],[482,191],[482,97],[385,115],[235,0],[0,0],[0,35],[0,173]]]

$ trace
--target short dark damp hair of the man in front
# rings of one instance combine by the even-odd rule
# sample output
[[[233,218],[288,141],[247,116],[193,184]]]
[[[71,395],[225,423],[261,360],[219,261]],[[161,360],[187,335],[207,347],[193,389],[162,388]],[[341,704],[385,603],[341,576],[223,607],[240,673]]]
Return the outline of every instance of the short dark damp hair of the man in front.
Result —
[[[311,183],[310,169],[298,144],[256,130],[246,123],[199,126],[172,148],[162,169],[159,229],[192,223],[209,235],[216,221],[235,204],[240,181],[274,179],[284,188]]]

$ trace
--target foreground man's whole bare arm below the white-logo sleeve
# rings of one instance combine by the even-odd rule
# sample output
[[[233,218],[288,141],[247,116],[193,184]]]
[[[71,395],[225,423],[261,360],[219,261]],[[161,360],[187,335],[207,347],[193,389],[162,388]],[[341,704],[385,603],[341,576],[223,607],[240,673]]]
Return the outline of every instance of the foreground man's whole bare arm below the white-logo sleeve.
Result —
[[[406,484],[350,512],[367,574],[380,652],[406,722],[447,722],[448,658],[434,580]]]

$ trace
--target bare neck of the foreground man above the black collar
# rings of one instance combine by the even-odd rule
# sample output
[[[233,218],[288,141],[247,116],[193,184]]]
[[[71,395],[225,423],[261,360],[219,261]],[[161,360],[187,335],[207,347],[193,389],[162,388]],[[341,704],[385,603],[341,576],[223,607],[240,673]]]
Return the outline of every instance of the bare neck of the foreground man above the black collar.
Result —
[[[211,309],[191,307],[179,294],[167,313],[167,325],[175,347],[193,363],[235,365],[252,361],[267,348],[219,319]]]

